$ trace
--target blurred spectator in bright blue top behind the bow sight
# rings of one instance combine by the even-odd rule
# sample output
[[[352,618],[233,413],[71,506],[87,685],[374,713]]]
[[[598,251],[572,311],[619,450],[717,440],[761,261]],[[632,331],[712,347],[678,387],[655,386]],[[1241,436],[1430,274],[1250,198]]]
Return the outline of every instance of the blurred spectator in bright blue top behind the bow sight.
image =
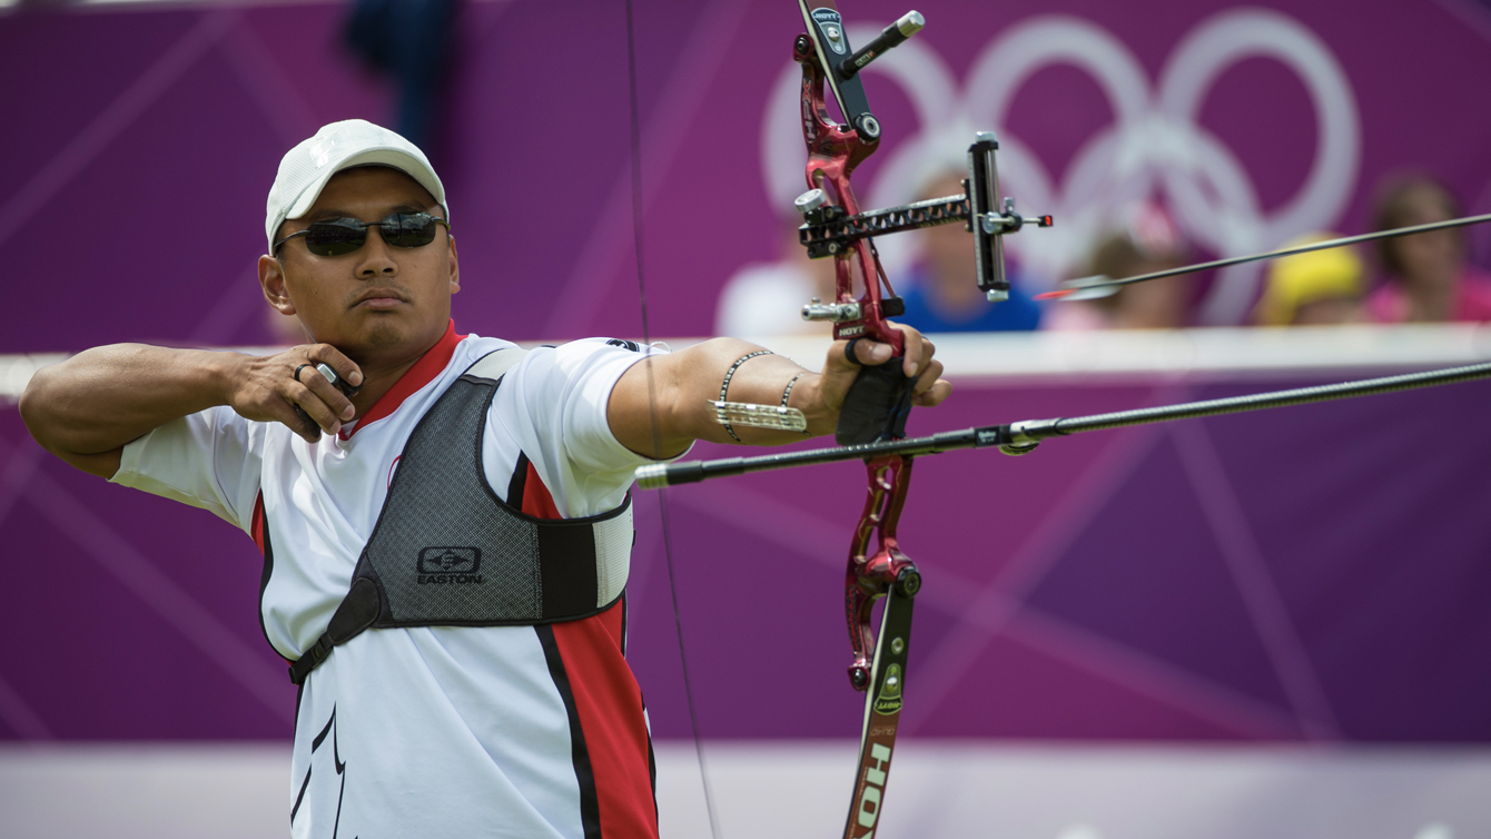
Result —
[[[963,191],[962,174],[933,179],[918,200],[956,195]],[[907,313],[896,320],[923,332],[993,332],[1035,329],[1041,307],[1018,288],[1011,271],[1009,300],[990,304],[978,291],[974,265],[974,240],[963,225],[941,225],[920,231],[920,262],[904,280],[892,279],[907,301]]]

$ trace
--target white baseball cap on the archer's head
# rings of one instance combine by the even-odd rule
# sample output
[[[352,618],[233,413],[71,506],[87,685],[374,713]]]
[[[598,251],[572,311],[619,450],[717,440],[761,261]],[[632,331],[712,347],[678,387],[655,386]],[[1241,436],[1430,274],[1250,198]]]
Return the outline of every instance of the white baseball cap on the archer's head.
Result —
[[[322,125],[315,137],[285,152],[280,159],[264,218],[268,253],[274,253],[279,225],[309,213],[331,176],[355,165],[386,165],[413,177],[434,195],[446,212],[446,221],[450,221],[446,188],[425,152],[388,128],[365,119],[344,119]]]

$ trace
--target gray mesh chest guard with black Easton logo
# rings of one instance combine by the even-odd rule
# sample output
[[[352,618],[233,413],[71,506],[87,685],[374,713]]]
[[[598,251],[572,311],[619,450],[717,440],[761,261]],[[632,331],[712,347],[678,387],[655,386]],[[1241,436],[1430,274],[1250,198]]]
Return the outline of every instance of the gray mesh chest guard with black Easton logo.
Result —
[[[535,519],[501,501],[482,468],[482,434],[520,349],[473,364],[414,426],[352,587],[297,662],[301,684],[365,629],[511,626],[598,614],[626,586],[631,495],[586,519]]]

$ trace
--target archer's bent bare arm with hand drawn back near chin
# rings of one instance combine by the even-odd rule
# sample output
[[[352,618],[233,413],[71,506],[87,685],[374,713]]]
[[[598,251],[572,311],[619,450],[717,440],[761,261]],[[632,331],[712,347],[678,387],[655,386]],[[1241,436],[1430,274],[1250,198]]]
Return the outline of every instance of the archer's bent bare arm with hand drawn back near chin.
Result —
[[[146,344],[95,347],[36,371],[21,395],[31,437],[73,466],[113,477],[125,444],[188,414],[230,405],[261,422],[282,422],[315,443],[335,434],[352,402],[321,374],[298,365],[327,362],[350,381],[361,371],[328,344],[292,347],[273,356],[176,350]],[[301,405],[319,428],[295,413]]]

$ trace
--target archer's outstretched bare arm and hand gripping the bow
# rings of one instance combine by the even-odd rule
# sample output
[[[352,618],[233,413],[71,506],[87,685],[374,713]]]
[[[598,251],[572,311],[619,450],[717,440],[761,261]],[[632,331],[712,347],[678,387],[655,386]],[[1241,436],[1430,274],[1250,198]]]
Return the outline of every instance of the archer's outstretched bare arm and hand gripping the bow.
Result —
[[[933,358],[932,341],[910,326],[896,325],[905,335],[902,370],[915,377],[912,404],[936,405],[953,386],[939,379],[942,362]],[[808,419],[808,435],[832,434],[838,425],[844,396],[859,376],[862,365],[878,365],[890,359],[887,344],[862,340],[854,344],[856,362],[835,341],[829,349],[823,373],[810,373],[790,359],[765,353],[737,362],[763,347],[735,338],[716,338],[684,350],[649,356],[634,364],[616,383],[607,404],[607,419],[616,440],[632,452],[653,459],[677,458],[695,440],[735,443],[714,419],[708,402],[720,398],[720,384],[731,374],[728,398],[732,402],[777,405],[792,384],[789,405]],[[734,367],[734,371],[731,370]],[[804,440],[801,432],[734,426],[740,443],[750,446],[783,446]]]

